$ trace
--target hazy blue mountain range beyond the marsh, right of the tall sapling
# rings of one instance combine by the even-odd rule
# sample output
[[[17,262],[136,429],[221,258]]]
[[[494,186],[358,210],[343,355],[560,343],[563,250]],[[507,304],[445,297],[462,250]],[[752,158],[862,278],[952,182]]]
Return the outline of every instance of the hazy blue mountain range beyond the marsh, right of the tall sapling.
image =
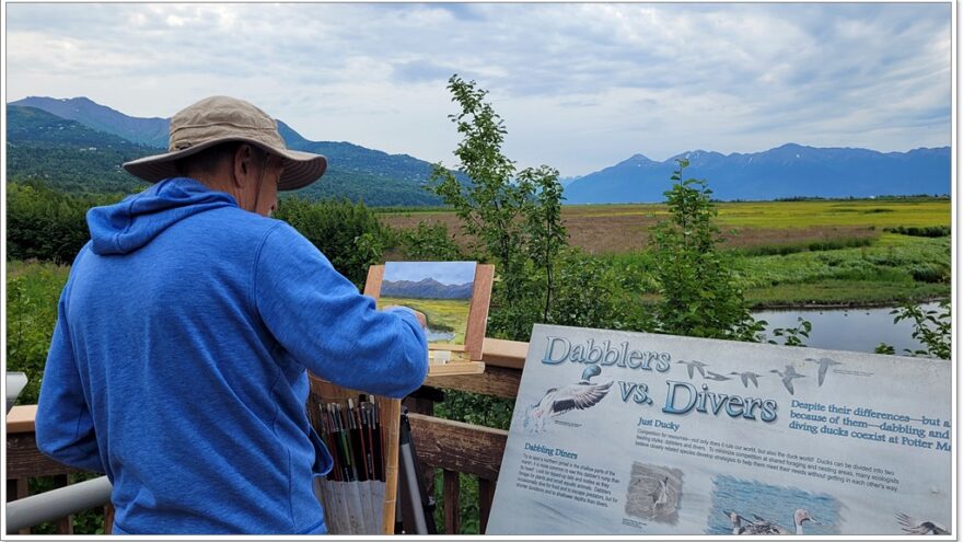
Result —
[[[787,143],[747,154],[696,150],[662,162],[636,154],[569,184],[566,203],[662,201],[680,159],[689,163],[683,178],[708,180],[722,200],[950,194],[949,147],[883,153]]]

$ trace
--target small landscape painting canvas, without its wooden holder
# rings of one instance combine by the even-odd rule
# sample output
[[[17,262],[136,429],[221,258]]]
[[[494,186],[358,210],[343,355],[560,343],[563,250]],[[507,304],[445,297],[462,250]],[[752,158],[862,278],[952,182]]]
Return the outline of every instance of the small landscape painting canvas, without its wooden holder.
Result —
[[[432,347],[464,346],[475,267],[475,262],[387,262],[378,305],[422,312]]]

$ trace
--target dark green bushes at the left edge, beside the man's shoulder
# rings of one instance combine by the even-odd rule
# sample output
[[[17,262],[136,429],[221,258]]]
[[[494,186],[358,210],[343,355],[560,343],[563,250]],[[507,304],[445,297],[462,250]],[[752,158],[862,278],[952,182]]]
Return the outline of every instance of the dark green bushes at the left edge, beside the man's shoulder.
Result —
[[[90,241],[86,211],[121,196],[71,196],[40,183],[7,185],[7,257],[73,262]]]

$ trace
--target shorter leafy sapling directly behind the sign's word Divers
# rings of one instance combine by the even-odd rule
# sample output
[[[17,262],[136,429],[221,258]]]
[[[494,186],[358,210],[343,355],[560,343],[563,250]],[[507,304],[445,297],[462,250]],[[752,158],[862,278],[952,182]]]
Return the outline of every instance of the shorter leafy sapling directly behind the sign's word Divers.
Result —
[[[754,341],[762,324],[750,314],[731,257],[717,249],[722,239],[712,222],[718,212],[712,191],[705,181],[683,181],[688,161],[677,162],[665,192],[670,219],[652,230],[659,331]]]

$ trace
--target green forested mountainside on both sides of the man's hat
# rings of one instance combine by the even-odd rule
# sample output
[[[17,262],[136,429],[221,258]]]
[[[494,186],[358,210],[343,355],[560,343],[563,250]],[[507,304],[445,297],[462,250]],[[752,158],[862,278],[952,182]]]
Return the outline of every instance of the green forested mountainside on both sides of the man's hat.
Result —
[[[50,100],[36,103],[59,104]],[[21,182],[42,180],[70,194],[132,193],[143,188],[146,184],[124,172],[120,164],[162,152],[162,149],[134,143],[121,136],[127,134],[124,130],[131,123],[149,119],[125,117],[113,109],[101,108],[112,112],[111,119],[92,125],[81,122],[97,120],[93,113],[77,122],[36,107],[8,105],[8,177]],[[297,193],[302,198],[347,198],[363,200],[369,206],[441,204],[438,196],[425,188],[431,164],[424,160],[344,141],[310,141],[282,122],[278,126],[289,148],[321,153],[328,159],[328,171],[322,181]],[[102,129],[109,132],[100,131]]]

